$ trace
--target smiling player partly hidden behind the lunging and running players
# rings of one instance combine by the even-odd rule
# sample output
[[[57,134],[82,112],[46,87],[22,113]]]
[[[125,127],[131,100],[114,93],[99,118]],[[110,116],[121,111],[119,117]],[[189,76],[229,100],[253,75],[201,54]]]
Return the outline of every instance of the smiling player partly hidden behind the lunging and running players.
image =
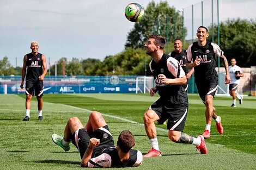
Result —
[[[189,80],[191,75],[194,72],[194,68],[192,68],[190,71],[188,71],[187,67],[186,67],[186,58],[187,58],[187,52],[185,49],[182,49],[182,40],[181,39],[175,39],[174,40],[174,51],[171,52],[169,55],[172,56],[174,59],[178,60],[180,62],[180,65],[182,67],[182,69],[184,70],[185,74],[186,74],[186,78],[187,78],[187,83],[185,85],[183,85],[185,91],[188,90],[188,84],[189,84]]]

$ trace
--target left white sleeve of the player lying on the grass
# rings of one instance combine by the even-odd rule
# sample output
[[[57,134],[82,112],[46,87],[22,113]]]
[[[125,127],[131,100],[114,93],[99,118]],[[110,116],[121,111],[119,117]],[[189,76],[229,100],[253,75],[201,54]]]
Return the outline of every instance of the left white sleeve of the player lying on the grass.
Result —
[[[103,153],[95,158],[90,159],[87,162],[88,168],[110,168],[111,167],[111,156]]]

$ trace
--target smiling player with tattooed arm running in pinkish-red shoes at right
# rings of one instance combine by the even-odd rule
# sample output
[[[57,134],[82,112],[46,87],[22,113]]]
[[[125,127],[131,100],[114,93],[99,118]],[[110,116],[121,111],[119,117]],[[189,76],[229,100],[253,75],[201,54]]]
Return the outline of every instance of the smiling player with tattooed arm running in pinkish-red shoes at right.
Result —
[[[187,49],[187,66],[188,68],[194,67],[194,78],[197,84],[197,90],[206,108],[206,125],[204,133],[202,134],[204,138],[209,138],[211,135],[211,118],[214,118],[216,121],[218,133],[223,134],[221,117],[216,115],[216,109],[213,106],[213,98],[218,89],[215,54],[223,59],[226,72],[225,84],[230,83],[228,61],[218,45],[207,41],[208,36],[208,29],[204,26],[200,26],[197,29],[198,41],[193,42]]]

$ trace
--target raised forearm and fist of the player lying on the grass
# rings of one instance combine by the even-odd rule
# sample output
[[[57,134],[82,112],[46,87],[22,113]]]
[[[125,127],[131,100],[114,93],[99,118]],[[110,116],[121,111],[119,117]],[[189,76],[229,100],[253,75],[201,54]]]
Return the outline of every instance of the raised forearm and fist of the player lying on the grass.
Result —
[[[93,149],[96,146],[99,146],[100,140],[97,138],[90,138],[89,146],[86,149],[86,152],[83,155],[82,161],[81,161],[81,167],[88,167],[87,162],[92,158]]]

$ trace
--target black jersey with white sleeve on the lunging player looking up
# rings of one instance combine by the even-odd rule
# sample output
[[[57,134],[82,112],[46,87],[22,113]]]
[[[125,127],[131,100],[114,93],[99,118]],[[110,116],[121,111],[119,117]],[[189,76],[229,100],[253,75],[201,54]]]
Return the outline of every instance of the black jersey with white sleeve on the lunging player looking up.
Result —
[[[157,90],[161,98],[167,98],[172,104],[188,104],[187,93],[182,85],[162,84],[159,74],[164,74],[168,79],[181,78],[185,75],[182,67],[176,59],[167,54],[163,54],[159,62],[150,61],[149,68],[153,73]]]

